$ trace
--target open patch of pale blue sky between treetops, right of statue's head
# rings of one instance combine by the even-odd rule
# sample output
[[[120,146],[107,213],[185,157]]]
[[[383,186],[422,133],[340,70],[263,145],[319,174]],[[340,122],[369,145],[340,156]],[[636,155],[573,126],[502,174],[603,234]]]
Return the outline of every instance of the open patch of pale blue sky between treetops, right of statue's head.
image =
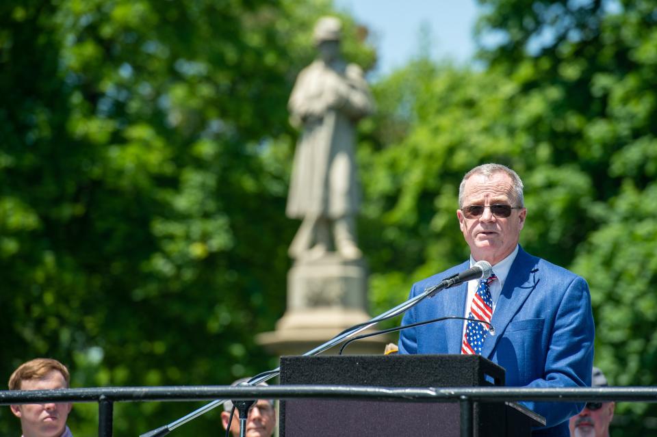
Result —
[[[430,55],[467,62],[474,53],[475,0],[334,0],[370,29],[378,51],[377,74],[404,65],[420,51],[420,29],[430,29]]]

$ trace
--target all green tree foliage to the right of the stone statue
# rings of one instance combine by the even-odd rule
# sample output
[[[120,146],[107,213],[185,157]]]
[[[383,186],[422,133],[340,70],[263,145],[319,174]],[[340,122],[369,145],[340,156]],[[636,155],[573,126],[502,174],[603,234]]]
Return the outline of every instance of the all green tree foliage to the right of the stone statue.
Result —
[[[376,84],[382,110],[361,150],[374,304],[465,259],[459,181],[505,163],[526,183],[521,244],[589,281],[596,364],[613,384],[655,385],[657,8],[480,3],[478,68],[417,59]],[[621,403],[617,415],[615,434],[633,436],[657,411]]]

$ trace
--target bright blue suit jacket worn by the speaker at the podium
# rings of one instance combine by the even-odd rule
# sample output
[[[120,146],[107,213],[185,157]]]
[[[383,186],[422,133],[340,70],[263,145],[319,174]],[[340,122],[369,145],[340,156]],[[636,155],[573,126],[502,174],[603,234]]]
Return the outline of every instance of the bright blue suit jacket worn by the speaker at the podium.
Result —
[[[465,262],[417,282],[411,297],[468,267]],[[467,284],[443,290],[411,308],[402,325],[463,317],[466,298]],[[495,335],[486,336],[481,355],[506,369],[507,386],[591,386],[594,327],[589,286],[582,277],[519,248],[491,323]],[[402,330],[399,353],[461,354],[462,341],[462,320],[439,321]],[[567,419],[584,408],[583,403],[524,404],[545,416],[540,434],[550,436],[569,436]]]

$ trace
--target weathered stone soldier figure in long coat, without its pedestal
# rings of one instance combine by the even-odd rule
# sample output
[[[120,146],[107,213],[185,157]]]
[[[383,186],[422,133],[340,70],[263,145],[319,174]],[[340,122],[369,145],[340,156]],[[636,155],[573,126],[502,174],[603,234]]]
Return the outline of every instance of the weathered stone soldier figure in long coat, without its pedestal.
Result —
[[[340,56],[341,33],[337,18],[320,18],[313,34],[319,57],[300,72],[289,98],[292,124],[302,128],[286,211],[302,219],[289,248],[295,259],[319,259],[332,246],[342,259],[362,256],[355,221],[360,206],[355,128],[372,113],[374,101],[361,68]]]

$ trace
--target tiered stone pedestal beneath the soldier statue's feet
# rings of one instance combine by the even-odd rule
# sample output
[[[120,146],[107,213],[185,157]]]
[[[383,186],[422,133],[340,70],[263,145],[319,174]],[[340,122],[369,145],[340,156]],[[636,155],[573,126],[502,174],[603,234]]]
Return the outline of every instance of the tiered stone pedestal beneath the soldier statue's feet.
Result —
[[[279,355],[300,355],[346,328],[370,320],[367,276],[361,259],[345,261],[328,254],[314,261],[297,261],[287,274],[285,315],[275,331],[258,334],[257,342]],[[355,341],[345,354],[383,354],[388,341],[383,335]],[[337,352],[339,346],[322,354]]]

